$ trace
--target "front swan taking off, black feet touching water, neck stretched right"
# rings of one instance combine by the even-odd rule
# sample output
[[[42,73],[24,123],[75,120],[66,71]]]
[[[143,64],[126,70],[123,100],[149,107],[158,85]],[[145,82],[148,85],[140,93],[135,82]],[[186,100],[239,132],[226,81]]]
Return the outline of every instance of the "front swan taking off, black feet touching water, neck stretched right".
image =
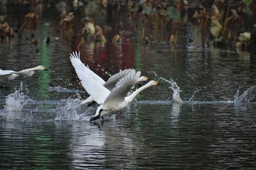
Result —
[[[92,77],[84,74],[83,70],[77,70],[77,75],[82,77],[82,86],[85,87],[85,90],[94,101],[100,103],[99,100],[101,101],[104,99],[103,104],[98,107],[95,116],[90,118],[90,121],[97,120],[98,118],[112,114],[113,112],[121,111],[133,101],[139,92],[150,86],[159,85],[158,82],[151,80],[146,85],[138,88],[138,90],[126,97],[127,93],[131,90],[131,87],[138,82],[141,71],[138,71],[137,73],[132,71],[127,74],[115,84],[115,87],[111,92]]]

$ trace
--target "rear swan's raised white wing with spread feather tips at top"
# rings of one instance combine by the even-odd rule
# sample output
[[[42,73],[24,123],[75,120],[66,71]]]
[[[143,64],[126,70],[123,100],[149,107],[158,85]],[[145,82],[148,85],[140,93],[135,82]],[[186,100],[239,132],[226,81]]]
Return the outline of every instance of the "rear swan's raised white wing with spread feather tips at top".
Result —
[[[105,81],[100,76],[98,76],[97,74],[93,73],[92,70],[90,70],[88,67],[86,67],[84,65],[84,63],[81,62],[81,60],[80,60],[80,52],[79,53],[77,53],[77,52],[71,53],[70,54],[70,60],[71,60],[71,63],[73,65],[73,67],[75,68],[76,72],[77,72],[77,70],[83,70],[84,74],[89,75],[92,79],[96,80],[100,84],[104,84],[105,83]],[[79,79],[80,79],[80,77],[79,77]]]

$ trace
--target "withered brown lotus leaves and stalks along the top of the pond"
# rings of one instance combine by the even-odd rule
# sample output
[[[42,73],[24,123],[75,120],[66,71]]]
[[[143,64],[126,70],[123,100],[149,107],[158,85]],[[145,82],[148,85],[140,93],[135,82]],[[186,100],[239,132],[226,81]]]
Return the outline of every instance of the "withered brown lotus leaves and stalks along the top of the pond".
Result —
[[[14,1],[7,1],[6,3],[13,3]],[[22,1],[20,1],[22,2]],[[26,1],[27,2],[27,1]],[[27,2],[28,4],[33,1]],[[57,5],[57,1],[40,1],[38,3],[48,3],[52,5]],[[78,48],[82,42],[88,40],[100,42],[104,45],[106,42],[104,32],[115,30],[115,34],[121,35],[122,39],[127,30],[123,30],[125,25],[119,22],[119,25],[108,25],[109,30],[106,27],[100,27],[100,23],[96,22],[101,16],[108,14],[108,17],[115,16],[118,19],[118,14],[120,10],[126,8],[126,16],[132,25],[134,32],[138,32],[138,36],[143,40],[144,44],[150,42],[150,39],[154,39],[154,42],[159,42],[157,40],[158,35],[161,38],[166,38],[169,45],[179,44],[179,37],[188,29],[189,23],[185,19],[185,15],[192,19],[192,23],[195,27],[200,27],[202,47],[205,44],[213,44],[217,47],[231,47],[242,46],[242,48],[237,48],[238,50],[245,50],[247,45],[251,45],[251,40],[244,41],[238,39],[238,35],[243,32],[251,32],[251,37],[254,40],[254,32],[245,30],[243,28],[243,16],[244,11],[251,10],[252,14],[256,14],[255,4],[256,1],[214,1],[209,8],[209,1],[187,1],[187,0],[175,0],[175,1],[164,1],[164,0],[141,0],[141,1],[74,1],[73,6],[75,10],[81,12],[84,8],[84,14],[86,16],[82,20],[81,27],[81,41]],[[108,2],[108,3],[107,3]],[[19,3],[19,2],[17,2]],[[38,4],[36,3],[36,4]],[[231,4],[232,3],[232,4]],[[72,8],[72,3],[61,3],[64,4],[60,15],[60,28],[64,35],[72,37],[73,33],[73,22],[76,12],[67,12],[63,10],[66,6],[70,5]],[[79,8],[77,8],[79,6]],[[67,8],[68,9],[68,8]],[[110,14],[110,15],[109,15]],[[9,24],[5,20],[6,16],[0,16],[0,33],[2,37],[13,36],[13,29],[9,27]],[[89,19],[89,20],[88,20]],[[35,13],[28,13],[25,15],[24,23],[20,27],[19,31],[22,31],[23,27],[31,26],[36,28],[38,20],[38,15]],[[115,22],[114,22],[115,23]],[[255,23],[253,23],[255,24]],[[129,24],[128,24],[129,25]],[[102,26],[102,25],[101,25]],[[113,27],[113,28],[112,28]],[[105,29],[104,29],[105,28]],[[116,28],[120,28],[117,32]],[[165,32],[164,32],[165,31]],[[130,32],[130,30],[129,30]],[[167,32],[167,36],[166,36]],[[133,32],[132,32],[133,33]],[[139,34],[141,33],[141,34]],[[172,36],[172,37],[171,37]],[[70,38],[71,39],[71,38]],[[190,39],[190,37],[188,37]],[[166,41],[165,40],[165,41]],[[111,40],[110,40],[111,41]],[[163,39],[161,39],[163,41]],[[189,42],[189,41],[188,41]],[[207,43],[206,43],[207,42]],[[208,43],[210,42],[210,43]],[[236,45],[237,44],[237,45]]]

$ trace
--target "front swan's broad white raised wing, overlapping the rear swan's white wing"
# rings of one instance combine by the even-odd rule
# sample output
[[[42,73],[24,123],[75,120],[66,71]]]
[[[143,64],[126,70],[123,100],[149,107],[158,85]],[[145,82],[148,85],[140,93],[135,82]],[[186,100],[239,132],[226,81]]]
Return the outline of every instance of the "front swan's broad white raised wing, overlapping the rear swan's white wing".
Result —
[[[84,87],[84,89],[88,92],[92,99],[98,104],[104,103],[104,100],[106,99],[106,97],[108,97],[110,91],[88,74],[84,74],[86,67],[83,67],[83,63],[81,63],[81,65],[81,69],[76,70],[76,73],[81,81],[82,87]]]

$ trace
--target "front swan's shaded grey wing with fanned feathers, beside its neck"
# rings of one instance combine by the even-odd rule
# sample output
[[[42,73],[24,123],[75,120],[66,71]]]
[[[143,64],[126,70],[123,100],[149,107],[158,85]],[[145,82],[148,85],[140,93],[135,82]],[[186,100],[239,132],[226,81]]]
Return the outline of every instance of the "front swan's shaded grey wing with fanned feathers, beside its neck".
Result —
[[[106,97],[104,103],[125,100],[127,93],[131,90],[131,87],[135,86],[139,76],[141,76],[141,71],[138,71],[137,73],[134,71],[120,79],[117,84],[115,84],[115,87],[110,92],[109,96]]]

